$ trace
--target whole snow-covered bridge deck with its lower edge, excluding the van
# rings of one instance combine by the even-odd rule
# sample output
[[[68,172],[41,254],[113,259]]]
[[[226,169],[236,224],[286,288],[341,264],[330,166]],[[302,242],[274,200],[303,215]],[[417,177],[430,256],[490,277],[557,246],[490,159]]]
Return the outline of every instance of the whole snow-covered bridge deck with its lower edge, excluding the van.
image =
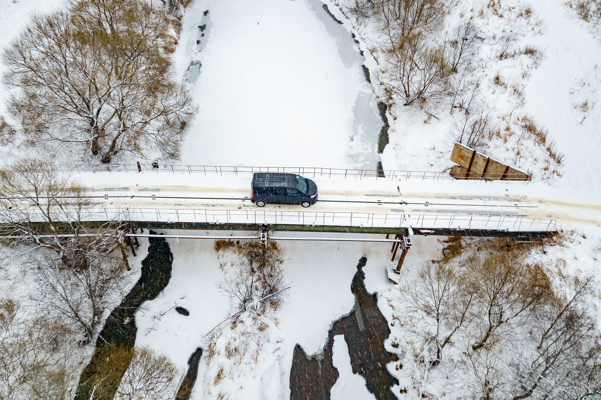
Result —
[[[541,236],[601,223],[597,204],[567,202],[542,182],[457,181],[440,172],[198,166],[58,167],[89,188],[85,218],[213,230]],[[101,170],[103,169],[103,170]],[[319,187],[301,206],[251,203],[252,172],[300,173]],[[532,196],[536,193],[537,196]]]

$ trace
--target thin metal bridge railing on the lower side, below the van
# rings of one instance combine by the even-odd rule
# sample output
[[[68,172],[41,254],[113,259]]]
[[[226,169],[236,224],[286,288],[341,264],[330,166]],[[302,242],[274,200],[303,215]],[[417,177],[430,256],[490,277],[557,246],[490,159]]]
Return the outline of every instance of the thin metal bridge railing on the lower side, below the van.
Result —
[[[30,218],[35,219],[32,212]],[[59,216],[55,216],[58,219]],[[278,210],[210,210],[158,208],[98,208],[88,211],[87,221],[201,222],[207,224],[284,224],[373,228],[483,229],[504,231],[555,231],[555,219],[519,215],[380,214]],[[40,216],[40,221],[43,218]]]

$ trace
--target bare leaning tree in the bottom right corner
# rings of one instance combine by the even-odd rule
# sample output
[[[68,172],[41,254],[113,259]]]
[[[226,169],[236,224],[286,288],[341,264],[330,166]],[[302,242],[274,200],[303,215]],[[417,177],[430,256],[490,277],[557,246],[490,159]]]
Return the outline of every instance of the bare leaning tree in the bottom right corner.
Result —
[[[514,400],[601,398],[601,337],[587,310],[594,283],[592,276],[570,279],[570,294],[537,313],[531,324],[535,350],[514,363],[520,393]]]

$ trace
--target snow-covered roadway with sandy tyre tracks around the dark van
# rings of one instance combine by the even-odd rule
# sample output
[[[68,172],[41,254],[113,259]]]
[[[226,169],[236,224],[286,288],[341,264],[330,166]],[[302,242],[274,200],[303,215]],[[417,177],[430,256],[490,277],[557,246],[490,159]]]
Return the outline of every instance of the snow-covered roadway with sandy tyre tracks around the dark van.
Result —
[[[461,228],[465,228],[463,222],[470,221],[471,228],[490,229],[490,221],[505,221],[506,218],[514,221],[517,218],[537,219],[536,223],[540,226],[529,225],[526,230],[546,230],[542,229],[543,224],[549,224],[552,219],[556,221],[551,222],[551,228],[587,227],[598,230],[601,225],[601,204],[569,200],[554,188],[538,183],[317,177],[314,181],[319,188],[319,201],[305,209],[284,204],[255,206],[250,201],[250,174],[82,173],[73,178],[89,188],[90,196],[94,197],[98,207],[108,209],[109,213],[111,210],[129,209],[129,212],[136,213],[132,218],[142,221],[203,222],[198,219],[200,210],[205,215],[213,215],[213,219],[205,217],[206,222],[219,219],[221,223],[225,220],[263,223],[266,218],[257,219],[255,214],[266,212],[274,218],[288,216],[290,223],[319,224],[322,219],[324,225],[328,216],[331,218],[328,225],[392,227],[396,224],[398,227],[413,224],[416,227],[416,221],[410,218],[418,215],[430,221],[422,219],[418,227],[423,228],[442,228],[441,223],[447,222],[441,221],[448,221],[449,227],[458,227],[451,222],[457,219]],[[159,216],[160,213],[163,216]],[[169,213],[173,215],[169,216]],[[366,222],[355,215],[353,224],[350,216],[343,218],[344,213],[371,214],[372,219]],[[292,216],[300,218],[303,214],[308,219],[292,221]],[[220,218],[218,215],[225,216]],[[244,220],[240,219],[240,215],[246,215]],[[376,217],[374,221],[373,215],[382,217]],[[404,221],[401,216],[409,219]],[[478,217],[484,225],[478,225],[480,222],[473,225],[471,217]],[[284,223],[286,220],[278,219]],[[518,226],[511,225],[510,230],[517,230]],[[507,225],[492,228],[505,230]],[[525,229],[523,225],[519,228]]]

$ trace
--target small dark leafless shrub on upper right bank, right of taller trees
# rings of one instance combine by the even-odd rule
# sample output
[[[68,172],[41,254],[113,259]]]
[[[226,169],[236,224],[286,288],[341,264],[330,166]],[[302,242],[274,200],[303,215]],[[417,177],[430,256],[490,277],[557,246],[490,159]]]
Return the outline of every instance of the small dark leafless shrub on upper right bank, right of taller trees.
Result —
[[[460,67],[465,67],[478,51],[478,30],[472,20],[457,25],[447,37],[447,57],[450,68],[457,72]]]

